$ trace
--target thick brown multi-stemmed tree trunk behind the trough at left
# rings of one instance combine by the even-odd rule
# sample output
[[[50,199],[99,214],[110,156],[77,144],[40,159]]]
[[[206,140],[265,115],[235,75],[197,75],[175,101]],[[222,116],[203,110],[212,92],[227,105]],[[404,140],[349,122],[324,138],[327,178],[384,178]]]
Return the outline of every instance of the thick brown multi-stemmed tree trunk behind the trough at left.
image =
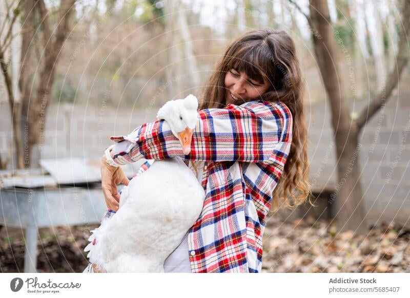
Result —
[[[25,129],[28,131],[28,141],[24,145],[24,154],[28,156],[28,165],[32,162],[33,148],[43,143],[45,119],[47,115],[47,108],[50,102],[50,91],[54,83],[56,68],[60,57],[61,49],[71,31],[71,17],[75,12],[74,3],[76,0],[61,0],[56,12],[53,14],[51,9],[46,7],[44,0],[27,0],[34,2],[34,9],[25,11],[25,15],[34,13],[37,18],[35,28],[40,34],[41,38],[34,39],[40,44],[42,55],[37,61],[36,72],[37,82],[36,87],[31,91],[29,96],[22,98],[22,121]],[[50,19],[55,17],[56,23],[53,29],[53,23]],[[38,30],[39,29],[39,30]],[[33,35],[23,32],[23,40],[33,40]],[[31,49],[28,49],[30,51]],[[26,52],[22,51],[22,55]],[[23,73],[21,75],[24,75]],[[32,83],[32,82],[28,82]],[[26,161],[25,161],[26,163]]]

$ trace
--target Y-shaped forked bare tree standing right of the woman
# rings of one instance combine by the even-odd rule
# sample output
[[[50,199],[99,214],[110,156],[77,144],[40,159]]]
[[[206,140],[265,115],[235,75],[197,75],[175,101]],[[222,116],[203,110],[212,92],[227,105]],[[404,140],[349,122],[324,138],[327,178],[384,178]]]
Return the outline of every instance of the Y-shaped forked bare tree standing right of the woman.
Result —
[[[336,191],[337,221],[340,230],[363,231],[365,225],[363,191],[360,183],[358,136],[364,125],[386,104],[396,88],[408,60],[408,34],[410,30],[410,0],[404,1],[402,27],[395,67],[387,76],[384,86],[373,101],[358,116],[352,116],[344,95],[337,61],[333,24],[326,0],[310,0],[310,15],[298,10],[308,19],[312,32],[315,56],[332,111],[332,126],[336,140],[338,184]],[[336,38],[340,38],[336,36]],[[340,42],[338,40],[338,42]]]

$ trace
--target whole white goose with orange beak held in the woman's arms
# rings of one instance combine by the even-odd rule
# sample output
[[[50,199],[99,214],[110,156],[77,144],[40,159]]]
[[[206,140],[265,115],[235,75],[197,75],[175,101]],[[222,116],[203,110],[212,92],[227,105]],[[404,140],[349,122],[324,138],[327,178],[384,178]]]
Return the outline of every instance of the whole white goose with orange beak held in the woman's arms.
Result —
[[[190,153],[198,100],[171,100],[157,118],[168,122]],[[205,193],[180,158],[156,160],[131,179],[116,214],[94,229],[85,248],[90,262],[107,272],[163,272],[163,263],[198,219]],[[187,252],[188,253],[188,252]]]

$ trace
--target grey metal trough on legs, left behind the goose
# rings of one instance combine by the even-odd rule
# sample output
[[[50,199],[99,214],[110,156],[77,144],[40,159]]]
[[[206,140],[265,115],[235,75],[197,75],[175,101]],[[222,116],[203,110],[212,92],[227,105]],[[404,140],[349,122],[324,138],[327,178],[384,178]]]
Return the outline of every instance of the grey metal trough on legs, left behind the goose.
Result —
[[[124,168],[126,175],[133,176],[141,163],[127,165]],[[72,162],[72,159],[44,164],[58,165],[58,169],[49,167],[47,171],[51,176],[45,175],[41,169],[0,171],[0,225],[26,230],[24,272],[36,272],[38,228],[97,224],[107,209],[101,184],[96,182],[100,178],[96,178],[95,168],[92,172],[84,168],[74,171],[73,165],[78,166],[78,162]],[[99,167],[98,163],[90,164]],[[58,184],[61,175],[54,176],[56,172],[70,173],[75,186]],[[70,181],[67,175],[64,179],[65,183]]]

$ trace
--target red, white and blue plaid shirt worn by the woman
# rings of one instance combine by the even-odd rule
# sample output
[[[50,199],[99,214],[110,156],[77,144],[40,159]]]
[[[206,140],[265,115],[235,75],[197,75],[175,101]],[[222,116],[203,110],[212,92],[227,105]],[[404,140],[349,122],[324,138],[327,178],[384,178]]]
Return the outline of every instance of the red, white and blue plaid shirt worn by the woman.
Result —
[[[290,151],[292,114],[280,101],[259,100],[201,110],[198,119],[187,156],[168,123],[159,120],[111,137],[131,142],[113,159],[202,161],[206,198],[188,235],[192,272],[260,272],[263,229]]]

